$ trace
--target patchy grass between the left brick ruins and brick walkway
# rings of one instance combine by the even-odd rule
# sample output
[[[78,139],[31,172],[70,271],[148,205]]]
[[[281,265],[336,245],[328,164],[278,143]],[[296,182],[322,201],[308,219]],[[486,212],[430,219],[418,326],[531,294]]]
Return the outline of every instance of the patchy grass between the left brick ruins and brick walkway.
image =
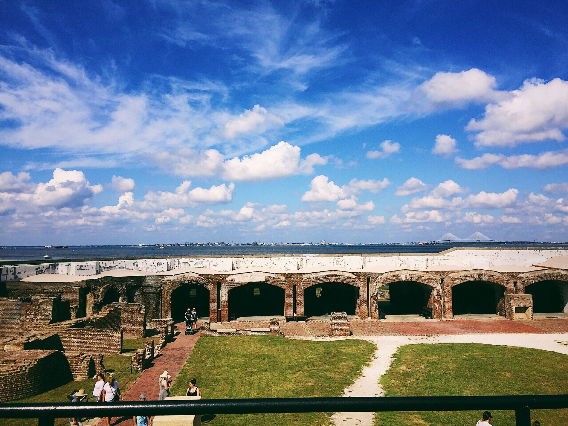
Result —
[[[118,377],[119,374],[123,373],[116,379],[119,383],[120,390],[126,391],[130,383],[132,383],[139,373],[130,374],[130,356],[118,355],[118,354],[108,354],[105,355],[103,362],[105,363],[105,368],[108,372],[115,374]],[[89,402],[93,402],[93,387],[95,386],[94,379],[87,379],[81,381],[73,381],[66,383],[65,385],[56,387],[50,391],[44,392],[43,394],[30,396],[28,398],[18,399],[10,401],[10,403],[26,403],[26,402],[69,402],[66,398],[73,390],[85,389],[87,395],[91,398]],[[69,424],[69,419],[56,419],[55,425]],[[35,426],[37,425],[36,419],[0,419],[0,426]]]

